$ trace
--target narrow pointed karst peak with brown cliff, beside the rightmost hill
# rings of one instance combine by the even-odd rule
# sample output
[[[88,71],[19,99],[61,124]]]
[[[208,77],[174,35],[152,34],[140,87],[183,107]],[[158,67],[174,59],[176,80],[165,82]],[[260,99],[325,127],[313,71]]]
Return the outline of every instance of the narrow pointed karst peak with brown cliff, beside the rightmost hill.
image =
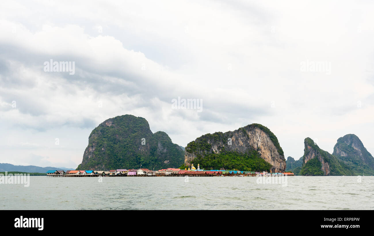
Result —
[[[304,140],[303,176],[350,176],[352,171],[336,156],[322,150],[310,138]]]

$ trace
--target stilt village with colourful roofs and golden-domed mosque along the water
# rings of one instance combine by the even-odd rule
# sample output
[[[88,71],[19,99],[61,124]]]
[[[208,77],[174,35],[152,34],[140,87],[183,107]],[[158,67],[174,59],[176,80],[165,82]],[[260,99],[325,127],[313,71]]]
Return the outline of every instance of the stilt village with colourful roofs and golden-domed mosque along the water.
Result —
[[[294,176],[294,173],[267,173],[255,171],[239,171],[239,170],[203,170],[200,165],[196,167],[191,164],[191,168],[181,170],[179,168],[167,168],[158,171],[152,171],[144,168],[140,169],[118,169],[110,171],[94,171],[94,170],[49,170],[46,172],[48,177],[153,177],[153,176]]]

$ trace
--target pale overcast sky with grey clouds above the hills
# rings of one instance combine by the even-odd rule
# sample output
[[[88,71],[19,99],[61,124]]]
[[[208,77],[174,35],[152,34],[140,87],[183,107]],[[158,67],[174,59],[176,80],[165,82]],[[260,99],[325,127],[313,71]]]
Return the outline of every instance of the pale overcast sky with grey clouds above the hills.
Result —
[[[132,114],[181,146],[252,123],[285,157],[310,137],[374,153],[370,1],[1,1],[0,163],[76,168]],[[46,62],[74,62],[74,73]],[[73,64],[71,64],[73,65]],[[199,99],[201,109],[172,100]]]

